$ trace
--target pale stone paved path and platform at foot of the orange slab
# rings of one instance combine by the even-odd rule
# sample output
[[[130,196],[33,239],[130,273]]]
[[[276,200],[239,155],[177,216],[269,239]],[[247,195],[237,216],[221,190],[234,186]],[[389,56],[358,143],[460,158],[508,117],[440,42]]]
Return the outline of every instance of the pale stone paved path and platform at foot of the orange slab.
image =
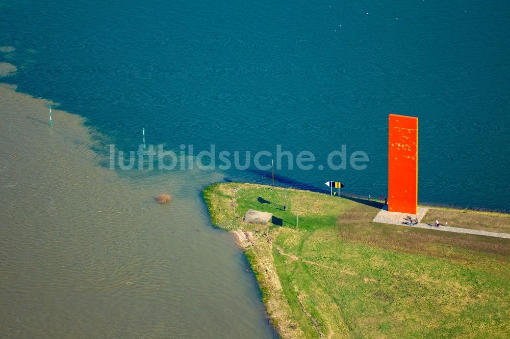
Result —
[[[435,227],[434,225],[420,222],[425,213],[427,213],[428,208],[418,207],[418,214],[408,214],[408,213],[400,213],[400,212],[388,212],[388,207],[385,206],[384,209],[380,210],[379,213],[375,216],[373,222],[387,223],[393,225],[401,225],[407,227],[416,227],[419,229],[427,229],[434,231],[445,231],[445,232],[455,232],[455,233],[468,233],[468,234],[477,234],[488,237],[497,237],[497,238],[507,238],[510,239],[510,233],[501,233],[501,232],[489,232],[489,231],[480,231],[480,230],[471,230],[471,229],[461,229],[458,227],[449,227],[443,226]],[[403,223],[404,218],[407,215],[411,215],[413,219],[417,218],[418,223],[416,225],[408,225]]]

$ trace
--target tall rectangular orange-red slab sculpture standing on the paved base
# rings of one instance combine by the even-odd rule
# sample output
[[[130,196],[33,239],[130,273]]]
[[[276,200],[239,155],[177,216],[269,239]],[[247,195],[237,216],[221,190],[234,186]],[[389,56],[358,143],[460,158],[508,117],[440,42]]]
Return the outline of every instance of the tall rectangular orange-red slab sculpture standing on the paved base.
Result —
[[[418,213],[418,118],[390,114],[388,211]]]

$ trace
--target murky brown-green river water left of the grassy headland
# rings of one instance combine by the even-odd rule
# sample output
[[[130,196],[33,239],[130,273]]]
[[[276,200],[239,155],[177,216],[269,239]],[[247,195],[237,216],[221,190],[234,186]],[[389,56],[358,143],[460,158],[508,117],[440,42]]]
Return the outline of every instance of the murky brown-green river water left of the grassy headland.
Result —
[[[0,86],[0,332],[19,337],[271,337],[253,276],[210,227],[218,173],[119,176],[78,116]],[[159,205],[154,196],[174,195]],[[200,232],[197,230],[200,229]]]

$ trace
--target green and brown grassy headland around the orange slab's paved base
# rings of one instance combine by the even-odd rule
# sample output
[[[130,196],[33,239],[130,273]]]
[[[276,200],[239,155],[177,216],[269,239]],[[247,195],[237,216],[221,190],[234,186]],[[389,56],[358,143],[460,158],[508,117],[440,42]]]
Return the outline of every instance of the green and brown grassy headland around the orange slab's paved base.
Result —
[[[203,195],[213,224],[245,231],[246,256],[283,338],[510,333],[508,239],[372,223],[381,204],[309,191],[287,189],[285,212],[281,188],[224,183]],[[245,223],[250,208],[282,226]],[[448,213],[476,216],[485,230],[507,218]]]

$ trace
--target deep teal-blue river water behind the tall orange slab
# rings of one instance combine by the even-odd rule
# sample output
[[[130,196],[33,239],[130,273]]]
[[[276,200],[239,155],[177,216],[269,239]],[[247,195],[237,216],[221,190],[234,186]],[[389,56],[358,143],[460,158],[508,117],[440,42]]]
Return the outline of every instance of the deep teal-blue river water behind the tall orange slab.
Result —
[[[364,196],[387,194],[388,114],[417,116],[419,203],[509,212],[508,22],[506,1],[8,1],[0,62],[18,72],[0,80],[121,150],[142,127],[195,153],[309,150],[311,170],[277,174]],[[328,168],[342,145],[367,167]]]

